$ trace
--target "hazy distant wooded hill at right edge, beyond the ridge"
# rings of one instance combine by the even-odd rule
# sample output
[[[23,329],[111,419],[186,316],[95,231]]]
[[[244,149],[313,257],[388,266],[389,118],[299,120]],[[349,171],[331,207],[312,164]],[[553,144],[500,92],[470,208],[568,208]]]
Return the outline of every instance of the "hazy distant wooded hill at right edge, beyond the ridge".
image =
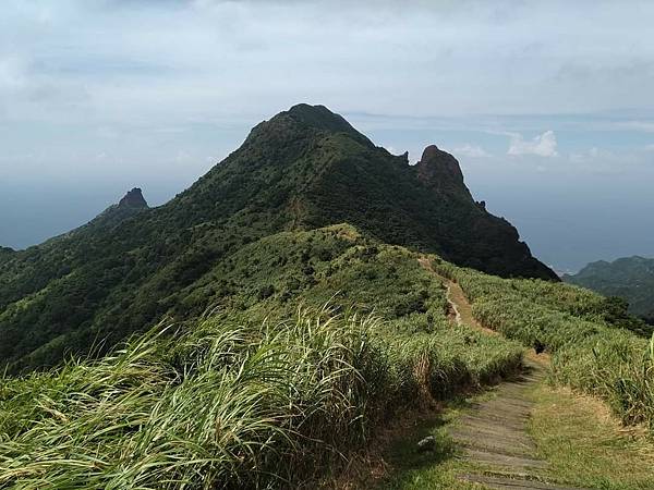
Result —
[[[626,257],[607,262],[589,264],[579,273],[564,275],[564,281],[618,296],[629,302],[629,310],[654,321],[654,259]]]

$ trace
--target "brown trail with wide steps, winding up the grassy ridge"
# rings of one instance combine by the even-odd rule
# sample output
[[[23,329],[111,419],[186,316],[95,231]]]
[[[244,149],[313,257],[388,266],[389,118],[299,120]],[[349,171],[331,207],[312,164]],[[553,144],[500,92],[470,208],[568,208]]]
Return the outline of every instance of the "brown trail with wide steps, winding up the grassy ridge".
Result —
[[[465,323],[484,333],[498,334],[475,320],[472,306],[459,284],[439,275],[426,257],[421,258],[420,264],[447,287],[447,299],[456,314],[457,324]],[[540,475],[548,463],[537,458],[535,444],[526,430],[533,407],[528,392],[543,382],[548,366],[542,356],[530,354],[518,379],[500,383],[489,400],[475,403],[449,430],[463,449],[463,457],[483,468],[479,473],[461,475],[462,480],[492,489],[579,490],[541,481]]]

